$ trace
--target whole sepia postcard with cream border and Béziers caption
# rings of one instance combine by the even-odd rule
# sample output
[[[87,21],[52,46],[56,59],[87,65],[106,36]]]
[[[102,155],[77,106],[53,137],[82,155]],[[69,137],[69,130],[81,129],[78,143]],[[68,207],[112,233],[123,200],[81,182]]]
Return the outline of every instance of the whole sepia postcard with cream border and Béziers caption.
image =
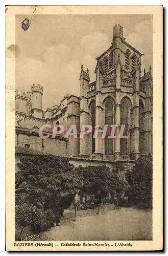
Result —
[[[7,6],[6,249],[162,246],[162,6]]]

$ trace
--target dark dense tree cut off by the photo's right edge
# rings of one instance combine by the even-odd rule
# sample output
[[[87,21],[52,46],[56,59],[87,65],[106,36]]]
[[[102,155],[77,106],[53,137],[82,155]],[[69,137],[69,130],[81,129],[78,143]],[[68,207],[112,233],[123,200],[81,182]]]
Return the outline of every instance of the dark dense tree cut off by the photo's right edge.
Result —
[[[140,207],[152,207],[152,156],[139,157],[133,170],[128,170],[126,179],[130,185],[132,201]]]

